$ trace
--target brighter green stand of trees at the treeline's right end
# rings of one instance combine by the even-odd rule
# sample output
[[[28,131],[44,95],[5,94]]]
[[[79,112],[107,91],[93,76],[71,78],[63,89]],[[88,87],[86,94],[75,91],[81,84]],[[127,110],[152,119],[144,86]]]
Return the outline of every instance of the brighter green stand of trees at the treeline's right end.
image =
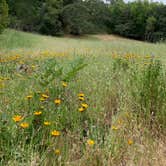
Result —
[[[136,1],[124,3],[118,1],[110,5],[113,33],[139,40],[165,40],[164,4]]]

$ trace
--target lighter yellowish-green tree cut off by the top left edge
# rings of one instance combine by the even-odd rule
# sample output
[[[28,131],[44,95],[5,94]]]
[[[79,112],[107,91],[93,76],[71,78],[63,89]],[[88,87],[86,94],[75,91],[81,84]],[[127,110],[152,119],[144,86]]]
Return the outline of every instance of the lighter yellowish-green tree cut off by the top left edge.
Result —
[[[0,33],[8,24],[8,5],[5,0],[0,0]]]

